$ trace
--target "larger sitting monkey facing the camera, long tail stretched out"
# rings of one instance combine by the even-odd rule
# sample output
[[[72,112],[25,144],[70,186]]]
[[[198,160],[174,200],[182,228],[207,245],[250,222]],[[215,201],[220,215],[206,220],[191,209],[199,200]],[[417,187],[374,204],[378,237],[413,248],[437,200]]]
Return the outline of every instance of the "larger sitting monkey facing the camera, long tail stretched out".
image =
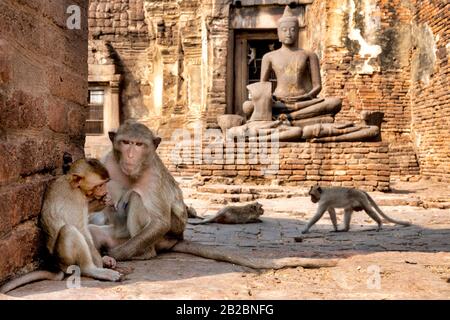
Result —
[[[336,265],[334,260],[309,258],[251,259],[222,252],[214,246],[182,241],[188,210],[180,187],[155,152],[160,141],[145,125],[133,121],[120,126],[113,138],[113,151],[104,163],[112,182],[127,190],[127,203],[119,207],[126,207],[130,237],[112,248],[108,248],[108,241],[97,241],[99,247],[109,249],[109,256],[117,260],[149,259],[157,252],[171,250],[255,269]],[[105,229],[96,231],[101,233]],[[93,231],[96,239],[113,237],[96,231]]]

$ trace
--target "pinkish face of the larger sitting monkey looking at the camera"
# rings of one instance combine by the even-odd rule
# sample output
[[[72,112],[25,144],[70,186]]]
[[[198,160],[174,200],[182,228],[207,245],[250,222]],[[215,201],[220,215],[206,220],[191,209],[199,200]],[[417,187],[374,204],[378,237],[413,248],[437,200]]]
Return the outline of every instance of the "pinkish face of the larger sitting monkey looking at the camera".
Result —
[[[121,140],[118,146],[120,152],[120,168],[127,176],[137,176],[148,156],[149,147],[139,140]]]

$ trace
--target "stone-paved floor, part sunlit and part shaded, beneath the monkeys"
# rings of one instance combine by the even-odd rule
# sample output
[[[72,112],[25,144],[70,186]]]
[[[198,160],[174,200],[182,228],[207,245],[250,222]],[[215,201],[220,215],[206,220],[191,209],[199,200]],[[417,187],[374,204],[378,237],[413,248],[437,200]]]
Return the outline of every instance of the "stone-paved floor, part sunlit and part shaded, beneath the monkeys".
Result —
[[[186,202],[200,215],[214,214],[223,206],[214,200],[218,196],[214,190],[209,190],[210,199],[196,196],[192,189],[184,191]],[[330,232],[331,222],[324,217],[296,242],[294,237],[315,210],[303,194],[300,190],[289,198],[257,197],[265,209],[262,223],[188,225],[186,238],[250,256],[338,258],[336,267],[255,271],[169,253],[149,261],[119,263],[119,269],[128,273],[122,283],[82,278],[81,288],[69,289],[66,281],[41,281],[0,299],[450,298],[449,186],[398,183],[392,193],[372,193],[385,213],[412,221],[411,227],[385,224],[375,232],[373,221],[357,212],[348,233]],[[338,219],[342,221],[342,213]]]

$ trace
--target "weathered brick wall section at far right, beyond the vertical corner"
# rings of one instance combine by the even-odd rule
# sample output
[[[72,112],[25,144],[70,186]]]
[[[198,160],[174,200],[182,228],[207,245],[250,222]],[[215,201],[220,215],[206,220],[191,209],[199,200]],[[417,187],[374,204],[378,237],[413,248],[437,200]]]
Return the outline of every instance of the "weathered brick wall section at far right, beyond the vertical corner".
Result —
[[[421,176],[450,182],[450,3],[416,1],[412,130]]]

